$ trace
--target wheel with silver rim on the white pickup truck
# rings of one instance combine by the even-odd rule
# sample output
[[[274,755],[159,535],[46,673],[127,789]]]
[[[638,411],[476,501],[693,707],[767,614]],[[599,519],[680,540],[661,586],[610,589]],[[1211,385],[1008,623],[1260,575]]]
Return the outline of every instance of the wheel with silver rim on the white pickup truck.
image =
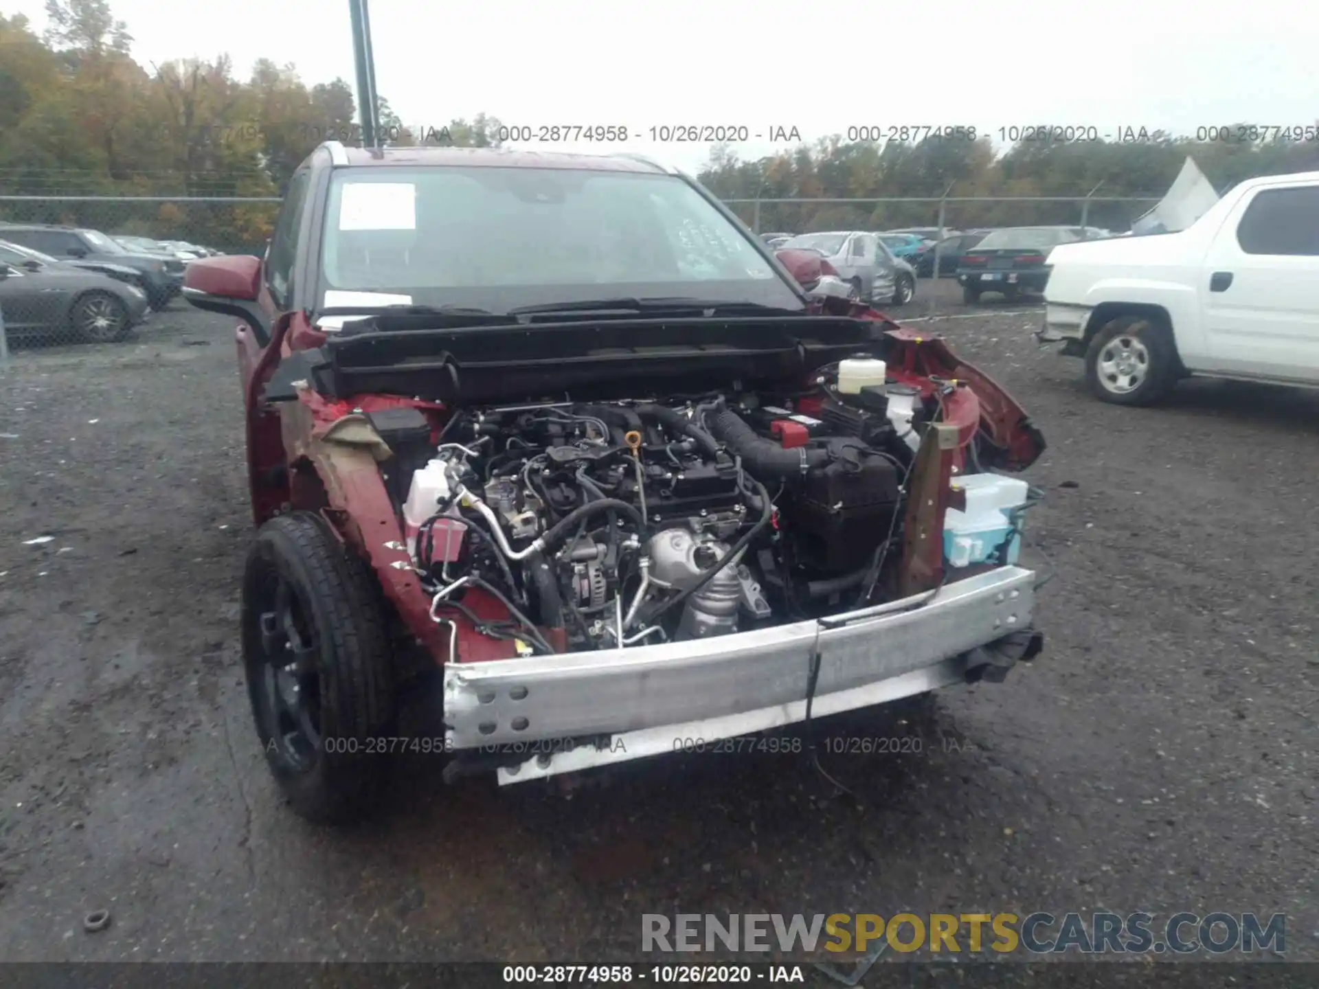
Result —
[[[1167,326],[1150,316],[1117,316],[1086,348],[1086,380],[1113,405],[1151,405],[1177,384],[1178,363]]]

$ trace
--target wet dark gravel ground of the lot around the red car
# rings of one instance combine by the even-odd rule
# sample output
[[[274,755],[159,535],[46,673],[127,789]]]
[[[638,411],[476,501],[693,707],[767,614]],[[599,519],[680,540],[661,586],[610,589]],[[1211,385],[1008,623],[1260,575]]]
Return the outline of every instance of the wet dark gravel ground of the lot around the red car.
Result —
[[[17,353],[0,957],[596,961],[636,959],[652,911],[1101,909],[1285,911],[1287,956],[1319,957],[1319,393],[1192,381],[1105,406],[1035,347],[1038,310],[954,289],[925,324],[1050,443],[1028,551],[1055,567],[1047,645],[1004,684],[827,725],[919,740],[822,756],[856,800],[793,756],[637,764],[568,796],[447,789],[419,760],[377,820],[302,823],[241,686],[228,320],[175,303],[132,344]],[[96,909],[112,923],[87,934]]]

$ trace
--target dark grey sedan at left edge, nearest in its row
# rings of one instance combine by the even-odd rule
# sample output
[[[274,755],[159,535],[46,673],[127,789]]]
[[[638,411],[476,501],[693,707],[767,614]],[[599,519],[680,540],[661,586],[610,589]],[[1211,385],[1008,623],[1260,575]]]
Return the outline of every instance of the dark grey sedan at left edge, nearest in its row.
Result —
[[[0,261],[0,314],[15,338],[61,338],[87,343],[123,340],[149,311],[146,293],[77,268],[30,270]]]

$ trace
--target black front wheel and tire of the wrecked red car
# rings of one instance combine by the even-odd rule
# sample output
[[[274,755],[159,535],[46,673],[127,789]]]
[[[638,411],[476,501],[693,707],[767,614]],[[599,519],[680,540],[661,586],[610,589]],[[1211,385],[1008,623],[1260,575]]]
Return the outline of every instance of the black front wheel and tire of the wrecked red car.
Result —
[[[257,531],[243,575],[248,698],[266,765],[307,820],[365,816],[388,778],[379,740],[397,702],[379,601],[367,564],[318,516],[293,512]]]

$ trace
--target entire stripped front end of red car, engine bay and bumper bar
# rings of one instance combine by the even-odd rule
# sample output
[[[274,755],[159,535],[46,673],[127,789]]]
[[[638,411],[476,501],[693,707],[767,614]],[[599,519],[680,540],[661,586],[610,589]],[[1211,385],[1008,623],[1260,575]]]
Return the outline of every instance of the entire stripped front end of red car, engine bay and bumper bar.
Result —
[[[690,319],[380,316],[272,382],[291,500],[442,669],[447,775],[674,752],[1039,653],[1037,492],[1008,475],[1043,439],[942,342],[842,305],[707,318],[700,344]]]

